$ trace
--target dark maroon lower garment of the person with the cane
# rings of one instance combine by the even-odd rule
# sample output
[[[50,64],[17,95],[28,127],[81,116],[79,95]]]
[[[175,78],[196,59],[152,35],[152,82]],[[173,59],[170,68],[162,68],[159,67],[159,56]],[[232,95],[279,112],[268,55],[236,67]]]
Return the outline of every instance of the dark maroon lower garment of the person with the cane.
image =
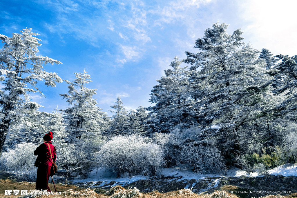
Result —
[[[48,190],[48,178],[50,177],[50,166],[40,164],[37,169],[36,190]]]

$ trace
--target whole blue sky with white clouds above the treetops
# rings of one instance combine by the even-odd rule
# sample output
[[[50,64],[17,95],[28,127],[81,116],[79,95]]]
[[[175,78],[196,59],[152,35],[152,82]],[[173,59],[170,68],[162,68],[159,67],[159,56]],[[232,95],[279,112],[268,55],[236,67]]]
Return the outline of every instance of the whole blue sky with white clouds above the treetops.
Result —
[[[96,88],[103,111],[120,96],[125,107],[151,106],[152,86],[175,56],[185,58],[197,38],[212,23],[230,24],[228,31],[241,28],[244,42],[273,54],[297,54],[295,1],[256,0],[1,0],[0,34],[11,36],[22,28],[40,34],[40,55],[61,61],[46,65],[64,80],[86,69]],[[51,112],[65,109],[59,94],[67,84],[46,87],[46,98],[32,95],[32,101]],[[109,115],[111,115],[109,113]]]

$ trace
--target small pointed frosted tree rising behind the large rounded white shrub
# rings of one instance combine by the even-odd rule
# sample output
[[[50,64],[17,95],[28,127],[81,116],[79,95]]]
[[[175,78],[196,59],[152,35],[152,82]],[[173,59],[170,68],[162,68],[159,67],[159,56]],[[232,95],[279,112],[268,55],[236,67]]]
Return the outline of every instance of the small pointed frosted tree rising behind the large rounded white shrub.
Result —
[[[109,110],[111,113],[114,113],[111,117],[109,132],[116,135],[127,134],[127,129],[129,128],[128,113],[120,96],[116,100],[116,104],[111,106],[114,110]]]

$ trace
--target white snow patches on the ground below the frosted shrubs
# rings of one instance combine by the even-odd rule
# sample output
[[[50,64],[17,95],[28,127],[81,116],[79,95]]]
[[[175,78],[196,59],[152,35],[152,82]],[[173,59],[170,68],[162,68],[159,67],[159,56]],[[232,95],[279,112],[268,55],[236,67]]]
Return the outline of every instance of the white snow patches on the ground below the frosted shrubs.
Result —
[[[297,164],[284,164],[281,166],[278,166],[274,169],[268,170],[270,175],[283,175],[283,176],[297,176]],[[219,175],[219,174],[197,174],[194,173],[192,170],[184,169],[181,167],[174,167],[174,168],[165,168],[162,170],[162,175],[168,176],[168,177],[175,177],[176,181],[180,180],[200,180],[204,179],[206,177],[240,177],[241,175],[246,177],[263,177],[263,175],[258,175],[255,172],[248,173],[243,170],[239,170],[238,168],[233,168],[228,170],[225,174]],[[116,185],[128,185],[132,182],[147,179],[145,176],[142,175],[136,175],[132,177],[128,176],[122,176],[121,178],[116,178],[116,174],[109,172],[108,170],[105,170],[104,168],[96,168],[91,171],[89,178],[86,179],[73,179],[71,180],[71,184],[79,184],[79,183],[88,183],[88,186],[96,186],[96,187],[111,187]],[[113,184],[108,185],[111,181],[114,181]],[[214,179],[211,181],[211,183],[214,184],[209,186],[211,188],[214,188],[218,185],[219,179]],[[210,184],[211,184],[210,183]],[[186,186],[187,188],[191,188],[195,186],[195,183]]]

